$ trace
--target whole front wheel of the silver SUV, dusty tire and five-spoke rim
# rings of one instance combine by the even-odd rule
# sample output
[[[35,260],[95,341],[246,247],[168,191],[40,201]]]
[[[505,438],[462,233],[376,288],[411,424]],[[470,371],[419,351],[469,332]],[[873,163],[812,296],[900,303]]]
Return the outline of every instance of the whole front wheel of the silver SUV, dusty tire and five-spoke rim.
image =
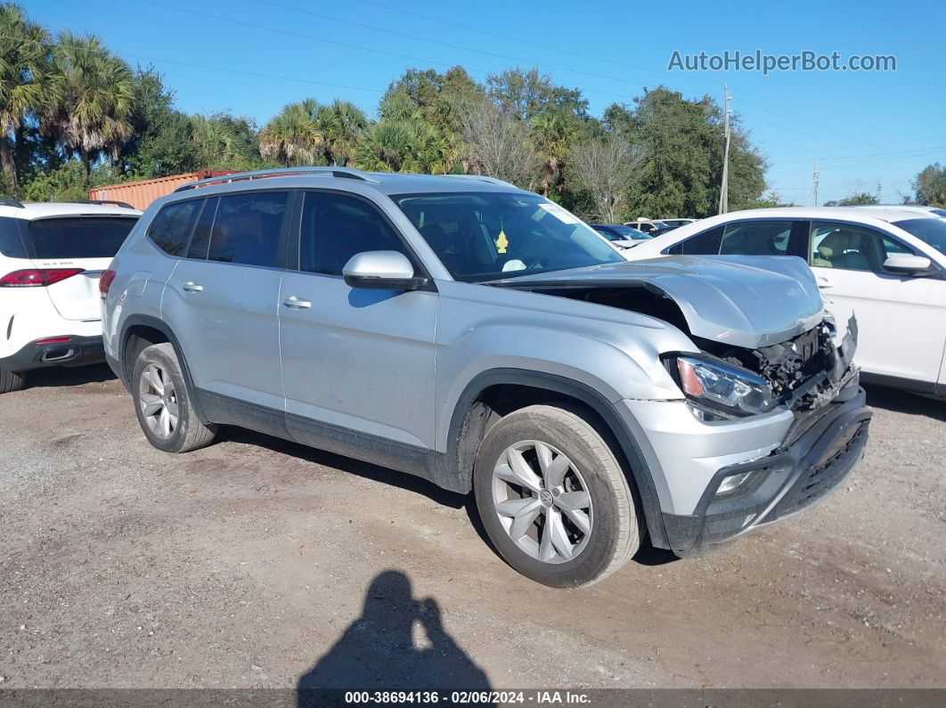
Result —
[[[591,585],[640,545],[640,517],[622,468],[578,413],[528,406],[482,440],[473,489],[503,560],[544,585]]]

